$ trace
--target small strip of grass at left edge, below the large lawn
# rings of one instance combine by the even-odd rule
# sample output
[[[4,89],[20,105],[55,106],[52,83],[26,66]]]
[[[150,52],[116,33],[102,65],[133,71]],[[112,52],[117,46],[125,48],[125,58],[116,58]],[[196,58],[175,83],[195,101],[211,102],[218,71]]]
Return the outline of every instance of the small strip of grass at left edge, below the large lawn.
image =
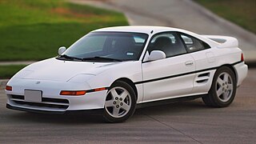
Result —
[[[22,70],[26,65],[10,65],[10,66],[0,66],[0,80],[11,78],[18,72]]]

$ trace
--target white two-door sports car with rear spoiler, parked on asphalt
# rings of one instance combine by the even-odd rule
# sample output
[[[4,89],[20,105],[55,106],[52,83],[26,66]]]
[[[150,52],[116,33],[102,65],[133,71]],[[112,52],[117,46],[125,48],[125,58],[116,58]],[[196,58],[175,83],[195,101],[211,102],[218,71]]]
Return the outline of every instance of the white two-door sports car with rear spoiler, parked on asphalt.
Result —
[[[123,122],[138,106],[202,98],[229,106],[247,66],[238,40],[162,26],[94,30],[7,83],[6,107],[63,114],[102,110]]]

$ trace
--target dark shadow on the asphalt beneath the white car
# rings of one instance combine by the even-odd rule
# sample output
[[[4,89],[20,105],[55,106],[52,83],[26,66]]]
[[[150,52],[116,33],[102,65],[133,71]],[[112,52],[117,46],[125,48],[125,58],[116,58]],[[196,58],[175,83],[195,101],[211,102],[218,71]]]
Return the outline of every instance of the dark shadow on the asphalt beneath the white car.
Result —
[[[177,113],[190,113],[195,110],[206,109],[202,100],[194,100],[189,102],[176,102],[167,105],[149,106],[137,109],[134,113],[134,118],[131,117],[128,122],[131,122],[141,116],[145,115],[166,115]],[[18,112],[10,114],[9,116],[18,119],[19,122],[39,122],[39,123],[55,123],[55,124],[92,124],[92,123],[106,123],[101,114],[36,114],[28,112]]]

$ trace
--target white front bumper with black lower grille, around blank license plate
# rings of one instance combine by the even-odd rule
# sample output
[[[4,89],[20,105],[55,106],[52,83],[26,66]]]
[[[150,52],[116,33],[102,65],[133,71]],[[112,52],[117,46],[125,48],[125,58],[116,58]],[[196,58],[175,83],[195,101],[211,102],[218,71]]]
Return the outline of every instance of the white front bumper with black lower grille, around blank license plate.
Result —
[[[64,114],[74,110],[98,110],[104,108],[106,91],[94,91],[81,96],[60,95],[61,90],[90,90],[86,83],[53,82],[12,78],[7,83],[12,91],[6,90],[7,108],[14,110]],[[74,89],[75,88],[75,89]],[[24,90],[41,90],[42,102],[27,102]]]

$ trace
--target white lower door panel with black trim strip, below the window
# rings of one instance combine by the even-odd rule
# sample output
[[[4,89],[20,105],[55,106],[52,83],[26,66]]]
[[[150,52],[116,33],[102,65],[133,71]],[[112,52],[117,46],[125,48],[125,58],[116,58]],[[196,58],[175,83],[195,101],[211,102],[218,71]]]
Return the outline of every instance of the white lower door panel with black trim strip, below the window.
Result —
[[[194,62],[190,54],[142,63],[143,80],[154,80],[194,71],[195,66],[186,66],[186,62]],[[193,89],[193,79],[194,74],[189,74],[177,78],[166,78],[154,82],[146,82],[143,84],[143,101],[150,102],[159,98],[171,98],[180,94],[190,94]]]

